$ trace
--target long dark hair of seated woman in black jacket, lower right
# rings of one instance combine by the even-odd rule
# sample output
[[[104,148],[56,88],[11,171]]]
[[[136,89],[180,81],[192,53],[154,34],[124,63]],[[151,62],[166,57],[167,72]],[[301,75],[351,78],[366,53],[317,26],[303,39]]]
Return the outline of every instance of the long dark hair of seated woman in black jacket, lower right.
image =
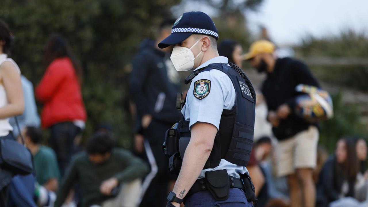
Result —
[[[351,137],[344,137],[342,140],[345,142],[346,159],[340,166],[341,171],[348,181],[355,182],[359,172],[359,161],[355,140]]]

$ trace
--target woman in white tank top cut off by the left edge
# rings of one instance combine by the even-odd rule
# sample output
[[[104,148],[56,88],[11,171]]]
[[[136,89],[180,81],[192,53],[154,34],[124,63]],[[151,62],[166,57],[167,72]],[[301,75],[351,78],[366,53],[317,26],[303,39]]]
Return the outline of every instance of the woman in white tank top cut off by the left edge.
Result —
[[[24,110],[20,70],[6,54],[11,43],[11,33],[5,22],[0,20],[0,139],[13,138],[9,117],[21,115]],[[0,166],[0,207],[7,206],[11,178],[12,174]]]

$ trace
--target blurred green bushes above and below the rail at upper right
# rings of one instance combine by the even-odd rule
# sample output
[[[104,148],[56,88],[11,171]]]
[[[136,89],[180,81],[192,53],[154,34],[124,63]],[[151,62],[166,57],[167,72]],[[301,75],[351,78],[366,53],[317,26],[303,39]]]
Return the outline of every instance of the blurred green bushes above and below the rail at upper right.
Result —
[[[317,39],[309,37],[296,47],[303,57],[368,57],[368,37],[353,31],[342,32],[338,36]],[[343,85],[367,92],[368,66],[320,66],[312,67],[325,82]]]

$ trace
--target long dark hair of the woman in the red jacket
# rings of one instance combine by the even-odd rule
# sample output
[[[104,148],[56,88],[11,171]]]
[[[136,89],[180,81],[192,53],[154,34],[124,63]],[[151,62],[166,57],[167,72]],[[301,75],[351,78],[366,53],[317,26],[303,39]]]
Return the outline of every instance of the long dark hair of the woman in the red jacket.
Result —
[[[58,33],[50,35],[45,45],[45,54],[43,56],[43,63],[45,67],[49,66],[53,60],[60,57],[69,57],[71,60],[75,74],[77,75],[79,83],[82,83],[82,67],[78,59],[73,55],[67,40]]]

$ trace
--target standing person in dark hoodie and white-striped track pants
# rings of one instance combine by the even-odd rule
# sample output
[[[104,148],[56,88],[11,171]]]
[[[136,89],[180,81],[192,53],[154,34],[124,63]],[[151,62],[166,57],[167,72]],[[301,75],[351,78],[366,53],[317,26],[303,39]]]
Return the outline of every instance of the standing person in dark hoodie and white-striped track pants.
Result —
[[[151,164],[151,172],[143,182],[145,194],[141,206],[164,206],[169,192],[169,162],[162,152],[162,144],[166,130],[181,117],[176,109],[180,77],[170,60],[172,48],[159,49],[157,45],[171,34],[174,22],[162,21],[156,40],[144,40],[132,61],[129,89],[137,109],[135,131],[144,137]],[[136,148],[142,148],[139,147],[141,136],[136,137]]]

